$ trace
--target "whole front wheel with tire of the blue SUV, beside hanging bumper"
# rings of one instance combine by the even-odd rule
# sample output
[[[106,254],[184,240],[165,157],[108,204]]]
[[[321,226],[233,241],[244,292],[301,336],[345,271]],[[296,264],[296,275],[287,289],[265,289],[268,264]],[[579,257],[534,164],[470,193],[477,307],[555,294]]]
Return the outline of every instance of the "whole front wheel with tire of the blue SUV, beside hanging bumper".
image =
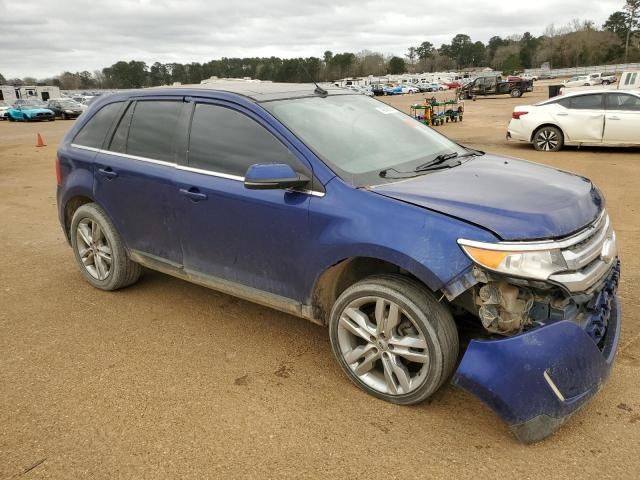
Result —
[[[459,349],[449,310],[401,275],[368,277],[345,290],[331,311],[329,337],[353,383],[399,405],[433,395],[453,373]]]

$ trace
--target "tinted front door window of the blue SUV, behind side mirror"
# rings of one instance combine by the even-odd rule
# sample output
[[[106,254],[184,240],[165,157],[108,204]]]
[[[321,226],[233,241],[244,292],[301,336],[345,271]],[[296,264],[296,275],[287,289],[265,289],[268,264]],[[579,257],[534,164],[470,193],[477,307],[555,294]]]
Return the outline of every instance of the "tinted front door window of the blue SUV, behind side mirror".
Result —
[[[244,177],[256,163],[297,159],[278,139],[246,115],[226,107],[197,104],[189,135],[189,166]]]

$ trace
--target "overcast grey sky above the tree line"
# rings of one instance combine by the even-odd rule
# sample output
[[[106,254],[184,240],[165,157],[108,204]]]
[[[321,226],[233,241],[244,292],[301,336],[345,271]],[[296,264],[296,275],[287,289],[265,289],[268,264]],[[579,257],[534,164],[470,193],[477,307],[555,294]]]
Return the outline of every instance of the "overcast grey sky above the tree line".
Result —
[[[457,33],[486,42],[574,18],[598,26],[624,0],[0,0],[0,73],[43,78],[118,60],[404,54]]]

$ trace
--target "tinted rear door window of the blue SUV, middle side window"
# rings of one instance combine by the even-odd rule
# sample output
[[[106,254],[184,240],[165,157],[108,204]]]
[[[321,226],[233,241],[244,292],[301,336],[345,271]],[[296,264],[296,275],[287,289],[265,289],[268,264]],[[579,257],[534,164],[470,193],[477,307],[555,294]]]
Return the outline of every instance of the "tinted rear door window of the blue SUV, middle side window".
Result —
[[[182,102],[139,101],[129,127],[126,153],[138,157],[175,161],[178,117]]]

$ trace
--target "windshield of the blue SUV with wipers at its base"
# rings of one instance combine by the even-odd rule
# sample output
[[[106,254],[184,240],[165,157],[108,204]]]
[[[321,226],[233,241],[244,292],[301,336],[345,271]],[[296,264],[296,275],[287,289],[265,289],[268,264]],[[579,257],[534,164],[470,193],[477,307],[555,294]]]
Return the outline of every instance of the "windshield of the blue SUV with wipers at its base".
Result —
[[[335,95],[262,104],[337,175],[357,187],[396,181],[382,170],[412,172],[438,155],[466,150],[378,100]]]

